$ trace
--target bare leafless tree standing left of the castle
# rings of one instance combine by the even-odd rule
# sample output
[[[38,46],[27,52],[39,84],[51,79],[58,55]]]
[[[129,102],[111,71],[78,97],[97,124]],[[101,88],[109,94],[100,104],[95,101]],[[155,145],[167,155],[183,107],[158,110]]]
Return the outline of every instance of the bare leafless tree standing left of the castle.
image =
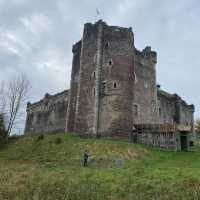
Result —
[[[16,121],[21,119],[21,110],[25,106],[30,83],[24,74],[12,79],[2,87],[0,106],[6,123],[8,137]]]

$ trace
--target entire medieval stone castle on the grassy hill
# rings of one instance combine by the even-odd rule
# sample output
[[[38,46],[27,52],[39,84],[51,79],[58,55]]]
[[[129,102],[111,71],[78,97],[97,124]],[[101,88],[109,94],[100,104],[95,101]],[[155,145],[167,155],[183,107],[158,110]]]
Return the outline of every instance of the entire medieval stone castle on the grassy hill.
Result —
[[[194,106],[156,84],[157,53],[149,46],[137,50],[131,28],[86,23],[72,52],[70,90],[28,103],[25,133],[133,136],[138,143],[189,149]]]

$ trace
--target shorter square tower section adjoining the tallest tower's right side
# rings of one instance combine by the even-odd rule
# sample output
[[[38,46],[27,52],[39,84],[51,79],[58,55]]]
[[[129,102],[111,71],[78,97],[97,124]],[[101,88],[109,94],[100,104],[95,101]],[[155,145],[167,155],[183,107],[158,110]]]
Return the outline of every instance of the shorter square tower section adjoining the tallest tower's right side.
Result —
[[[151,47],[135,49],[133,123],[157,122],[156,63],[157,54]]]

